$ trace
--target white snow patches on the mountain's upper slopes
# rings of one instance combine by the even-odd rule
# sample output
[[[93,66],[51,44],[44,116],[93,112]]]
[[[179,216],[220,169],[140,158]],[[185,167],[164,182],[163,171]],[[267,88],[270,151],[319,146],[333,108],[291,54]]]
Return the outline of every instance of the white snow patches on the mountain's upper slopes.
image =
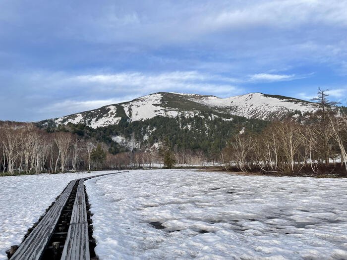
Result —
[[[301,113],[317,110],[317,106],[314,104],[307,104],[295,99],[281,100],[278,98],[265,96],[261,93],[249,93],[246,95],[225,99],[215,96],[203,96],[197,94],[170,93],[179,95],[180,97],[189,101],[204,104],[218,112],[221,112],[222,109],[222,112],[227,112],[232,115],[244,116],[247,118],[259,118],[264,120],[278,119],[287,115],[289,112],[294,112],[295,110],[299,110]],[[187,117],[192,117],[195,114],[199,114],[199,111],[194,109],[184,111],[170,107],[168,104],[165,104],[165,102],[162,101],[162,98],[163,94],[155,93],[134,99],[127,103],[120,103],[118,105],[124,108],[124,112],[126,116],[129,117],[130,121],[146,120],[155,116],[176,117],[177,115],[184,115]],[[90,122],[90,119],[88,119],[88,113],[78,113],[60,117],[55,119],[55,122],[60,124],[63,119],[65,119],[65,124],[68,122],[83,123],[88,121],[88,125],[93,128],[118,124],[121,118],[115,117],[117,106],[109,105],[107,108],[111,109],[107,114],[101,115],[100,118],[99,116],[95,117]],[[99,110],[101,113],[100,108],[95,110]],[[297,117],[298,115],[293,114],[293,116]],[[232,120],[232,118],[224,120],[229,121]]]

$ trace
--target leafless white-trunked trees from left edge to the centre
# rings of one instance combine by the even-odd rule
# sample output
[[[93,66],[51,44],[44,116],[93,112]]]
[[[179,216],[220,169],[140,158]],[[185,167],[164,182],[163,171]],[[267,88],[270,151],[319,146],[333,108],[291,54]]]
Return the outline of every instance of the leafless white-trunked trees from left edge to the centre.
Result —
[[[204,164],[208,160],[201,150],[177,150],[177,146],[167,146],[170,156],[161,153],[162,148],[119,152],[116,155],[110,153],[109,148],[96,139],[82,138],[67,131],[47,132],[34,123],[0,122],[0,169],[11,175],[16,172],[39,174],[163,165],[172,167],[174,163],[193,165]]]

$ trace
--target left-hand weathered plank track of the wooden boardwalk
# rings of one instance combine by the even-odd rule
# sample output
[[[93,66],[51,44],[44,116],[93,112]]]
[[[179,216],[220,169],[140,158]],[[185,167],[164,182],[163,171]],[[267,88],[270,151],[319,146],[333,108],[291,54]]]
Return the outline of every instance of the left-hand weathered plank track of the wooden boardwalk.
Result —
[[[70,182],[52,208],[46,213],[39,224],[33,229],[26,240],[19,246],[11,260],[39,260],[52,233],[58,223],[61,211],[75,185],[76,180]]]

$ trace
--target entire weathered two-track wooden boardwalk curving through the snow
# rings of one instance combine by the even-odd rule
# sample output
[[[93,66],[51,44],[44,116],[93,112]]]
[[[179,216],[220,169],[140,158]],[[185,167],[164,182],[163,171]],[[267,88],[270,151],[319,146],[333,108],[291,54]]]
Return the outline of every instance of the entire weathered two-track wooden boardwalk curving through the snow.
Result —
[[[115,173],[101,174],[83,179],[71,181],[61,195],[58,197],[53,206],[48,210],[46,215],[30,232],[27,238],[22,242],[10,260],[42,260],[44,251],[51,247],[48,245],[57,226],[59,218],[62,216],[63,209],[68,203],[68,199],[77,186],[76,196],[73,202],[70,222],[66,240],[63,243],[63,249],[60,260],[90,260],[89,255],[89,234],[88,234],[88,217],[86,196],[84,191],[84,181],[87,179],[101,177]],[[73,193],[74,194],[74,193]],[[73,194],[71,196],[73,196]],[[70,198],[71,200],[71,198]],[[66,233],[66,232],[62,232]],[[59,233],[60,234],[60,233]],[[52,242],[52,241],[51,241]],[[58,249],[59,248],[59,244]],[[54,248],[54,245],[53,245]],[[52,247],[51,247],[52,250]],[[61,252],[61,251],[60,251]],[[52,258],[53,259],[53,258]],[[54,258],[55,260],[57,258]]]

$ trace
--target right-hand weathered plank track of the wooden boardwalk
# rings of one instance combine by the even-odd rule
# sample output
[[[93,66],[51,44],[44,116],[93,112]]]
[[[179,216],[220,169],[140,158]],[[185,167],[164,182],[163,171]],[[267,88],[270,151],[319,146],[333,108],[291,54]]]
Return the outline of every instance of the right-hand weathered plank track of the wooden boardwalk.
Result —
[[[60,260],[89,260],[89,237],[84,179],[79,181],[64,249]]]

